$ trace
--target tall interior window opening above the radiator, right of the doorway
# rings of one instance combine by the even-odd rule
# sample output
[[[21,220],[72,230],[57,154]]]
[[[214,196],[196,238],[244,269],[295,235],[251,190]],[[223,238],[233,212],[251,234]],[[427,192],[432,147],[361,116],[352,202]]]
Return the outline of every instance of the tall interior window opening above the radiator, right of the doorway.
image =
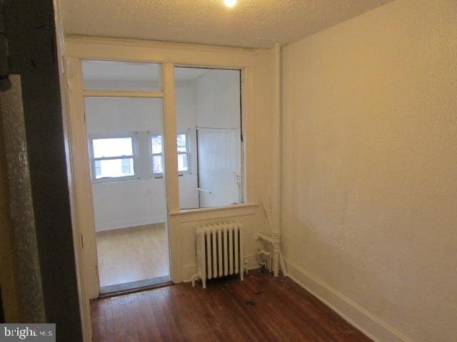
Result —
[[[176,66],[174,81],[179,207],[242,203],[241,71]]]

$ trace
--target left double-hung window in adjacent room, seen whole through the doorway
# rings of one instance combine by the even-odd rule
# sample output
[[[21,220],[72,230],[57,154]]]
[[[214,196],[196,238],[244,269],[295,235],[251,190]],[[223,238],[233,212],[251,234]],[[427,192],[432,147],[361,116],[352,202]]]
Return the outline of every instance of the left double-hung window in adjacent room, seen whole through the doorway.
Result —
[[[89,139],[93,182],[135,178],[136,135]]]

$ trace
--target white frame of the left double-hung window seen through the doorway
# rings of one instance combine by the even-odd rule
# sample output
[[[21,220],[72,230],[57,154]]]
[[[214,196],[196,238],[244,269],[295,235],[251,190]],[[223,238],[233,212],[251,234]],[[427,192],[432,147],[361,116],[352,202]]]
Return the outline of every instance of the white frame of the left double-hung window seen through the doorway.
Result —
[[[114,157],[95,157],[94,156],[94,140],[99,139],[120,139],[120,138],[131,138],[131,148],[133,155],[116,155]],[[128,133],[117,133],[117,134],[96,134],[89,135],[89,163],[91,168],[91,182],[92,183],[106,183],[106,182],[121,182],[125,180],[139,180],[139,146],[138,146],[138,133],[137,132],[128,132]],[[95,162],[97,160],[123,160],[123,159],[132,159],[134,167],[134,175],[131,176],[122,176],[122,177],[102,177],[96,178],[96,166]]]

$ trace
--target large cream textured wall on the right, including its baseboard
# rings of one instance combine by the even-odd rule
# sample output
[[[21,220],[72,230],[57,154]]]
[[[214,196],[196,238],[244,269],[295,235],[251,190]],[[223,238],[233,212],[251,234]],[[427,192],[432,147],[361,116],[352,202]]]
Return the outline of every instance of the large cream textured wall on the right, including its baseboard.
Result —
[[[288,271],[378,341],[457,341],[456,41],[396,0],[283,48]]]

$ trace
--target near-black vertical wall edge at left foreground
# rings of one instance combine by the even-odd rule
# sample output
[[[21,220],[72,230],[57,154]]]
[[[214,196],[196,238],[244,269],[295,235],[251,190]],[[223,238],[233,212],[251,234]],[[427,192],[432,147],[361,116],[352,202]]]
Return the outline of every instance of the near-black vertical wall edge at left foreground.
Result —
[[[65,327],[59,329],[58,341],[82,341],[54,2],[7,0],[5,16],[10,71],[20,75],[21,80],[27,155],[27,161],[22,159],[21,162],[29,165],[27,175],[31,186],[46,322]],[[26,170],[21,168],[18,172],[26,173]],[[26,254],[30,252],[26,248],[30,247],[29,237],[24,237],[20,244]],[[21,270],[21,276],[26,279],[21,288],[34,285],[31,281],[34,277],[28,267]],[[21,299],[28,299],[31,305],[26,309],[33,310],[37,300],[33,297],[38,286],[29,290]]]

